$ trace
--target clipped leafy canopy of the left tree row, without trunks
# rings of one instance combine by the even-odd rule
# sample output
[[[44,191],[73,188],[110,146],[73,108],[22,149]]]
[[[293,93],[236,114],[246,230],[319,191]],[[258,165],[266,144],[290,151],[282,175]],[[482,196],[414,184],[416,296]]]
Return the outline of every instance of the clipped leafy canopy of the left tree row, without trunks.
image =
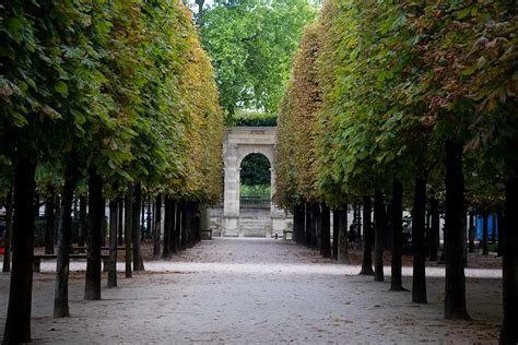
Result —
[[[110,192],[138,180],[217,201],[223,116],[183,4],[10,1],[0,13],[2,166],[39,160],[42,190],[78,162]]]

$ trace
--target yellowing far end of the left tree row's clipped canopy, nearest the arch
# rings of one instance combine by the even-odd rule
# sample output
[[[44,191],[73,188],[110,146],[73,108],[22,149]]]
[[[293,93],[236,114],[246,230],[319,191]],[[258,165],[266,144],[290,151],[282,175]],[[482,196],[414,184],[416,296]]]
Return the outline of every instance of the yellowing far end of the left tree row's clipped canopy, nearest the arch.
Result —
[[[185,136],[180,147],[188,153],[181,193],[207,203],[216,203],[222,193],[223,115],[208,56],[201,48],[190,12],[183,9],[180,22],[187,28],[186,63],[179,75],[180,114]],[[181,152],[181,151],[180,151]]]

